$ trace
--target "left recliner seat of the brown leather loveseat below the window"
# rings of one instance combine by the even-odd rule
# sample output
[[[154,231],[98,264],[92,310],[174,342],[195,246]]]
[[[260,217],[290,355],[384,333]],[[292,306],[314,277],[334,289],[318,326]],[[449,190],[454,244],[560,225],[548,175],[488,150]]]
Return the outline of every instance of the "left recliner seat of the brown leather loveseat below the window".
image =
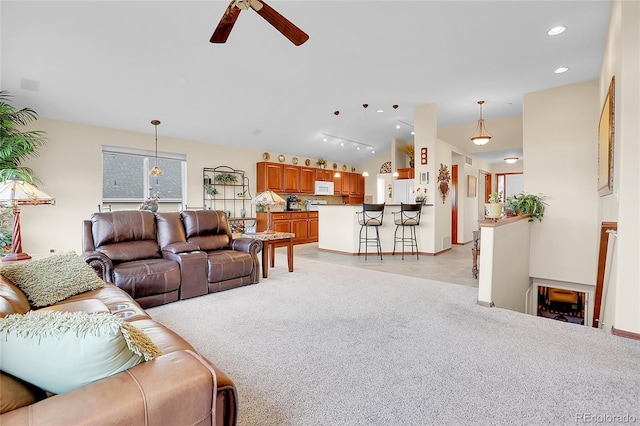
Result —
[[[83,258],[90,264],[100,260],[106,265],[102,278],[143,308],[179,299],[180,264],[162,257],[152,212],[94,213],[84,221],[83,231]]]

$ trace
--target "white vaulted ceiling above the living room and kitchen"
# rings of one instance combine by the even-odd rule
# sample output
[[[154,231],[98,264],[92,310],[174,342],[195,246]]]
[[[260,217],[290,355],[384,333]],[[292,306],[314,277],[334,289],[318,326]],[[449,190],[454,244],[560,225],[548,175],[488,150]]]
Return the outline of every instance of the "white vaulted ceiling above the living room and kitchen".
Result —
[[[249,10],[226,44],[211,44],[227,4],[3,0],[2,90],[43,117],[149,134],[159,119],[162,151],[171,136],[360,165],[370,150],[349,141],[377,155],[410,140],[411,126],[396,125],[413,124],[417,105],[437,103],[439,126],[452,126],[475,122],[484,99],[489,126],[520,115],[524,93],[597,78],[611,8],[272,0],[308,42],[294,46]],[[567,31],[548,36],[556,25]]]

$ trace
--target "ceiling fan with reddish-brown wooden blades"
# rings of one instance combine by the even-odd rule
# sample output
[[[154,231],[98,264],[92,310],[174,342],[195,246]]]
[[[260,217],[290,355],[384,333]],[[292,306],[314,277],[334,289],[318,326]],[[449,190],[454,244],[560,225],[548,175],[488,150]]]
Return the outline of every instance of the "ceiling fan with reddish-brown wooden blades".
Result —
[[[226,42],[229,38],[233,25],[236,23],[236,20],[240,15],[240,11],[247,10],[249,8],[255,10],[258,15],[266,19],[267,22],[273,25],[276,30],[280,31],[282,35],[291,40],[291,42],[296,46],[300,46],[309,39],[309,36],[304,31],[296,27],[291,23],[291,21],[280,15],[264,1],[232,0],[231,3],[229,3],[227,10],[224,12],[224,15],[222,15],[222,19],[220,19],[220,23],[216,27],[213,35],[211,36],[211,40],[209,41],[211,43]]]

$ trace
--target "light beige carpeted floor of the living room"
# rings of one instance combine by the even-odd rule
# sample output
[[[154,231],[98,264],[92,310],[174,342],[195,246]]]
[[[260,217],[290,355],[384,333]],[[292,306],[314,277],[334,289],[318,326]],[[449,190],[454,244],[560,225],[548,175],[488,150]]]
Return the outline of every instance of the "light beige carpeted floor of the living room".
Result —
[[[240,426],[640,421],[638,341],[484,308],[473,287],[285,265],[148,309],[235,381]]]

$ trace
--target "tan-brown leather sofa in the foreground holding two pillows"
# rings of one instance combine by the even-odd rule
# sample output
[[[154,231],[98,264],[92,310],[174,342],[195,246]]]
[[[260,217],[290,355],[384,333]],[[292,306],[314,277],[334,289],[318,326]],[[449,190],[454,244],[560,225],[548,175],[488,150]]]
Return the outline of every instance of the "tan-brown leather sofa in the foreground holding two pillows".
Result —
[[[162,355],[70,392],[46,396],[24,383],[0,389],[29,405],[0,414],[1,425],[219,425],[237,420],[234,383],[182,337],[154,321],[125,291],[107,283],[39,310],[114,312],[143,330]],[[0,317],[31,310],[20,289],[0,276]],[[3,375],[0,371],[0,375]],[[3,383],[7,377],[0,378]],[[11,395],[9,395],[11,393]],[[29,399],[29,398],[27,398]],[[34,401],[35,400],[35,401]],[[21,405],[21,404],[15,404]]]

